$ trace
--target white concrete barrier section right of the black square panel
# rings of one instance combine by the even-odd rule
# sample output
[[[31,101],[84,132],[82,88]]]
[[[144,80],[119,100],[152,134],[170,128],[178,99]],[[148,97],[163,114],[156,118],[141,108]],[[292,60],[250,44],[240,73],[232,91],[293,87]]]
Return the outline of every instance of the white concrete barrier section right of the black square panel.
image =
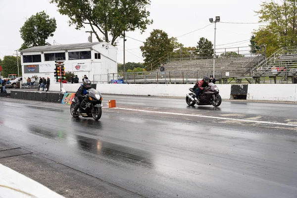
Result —
[[[247,100],[297,101],[297,85],[249,84]]]

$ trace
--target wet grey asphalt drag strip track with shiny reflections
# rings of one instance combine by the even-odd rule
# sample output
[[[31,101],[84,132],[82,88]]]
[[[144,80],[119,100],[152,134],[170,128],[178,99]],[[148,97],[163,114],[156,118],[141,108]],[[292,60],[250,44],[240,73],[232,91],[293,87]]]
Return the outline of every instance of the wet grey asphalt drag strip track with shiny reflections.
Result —
[[[120,108],[106,108],[108,99]],[[129,193],[120,197],[297,198],[296,104],[103,100],[95,121],[72,118],[67,105],[2,98],[0,141]]]

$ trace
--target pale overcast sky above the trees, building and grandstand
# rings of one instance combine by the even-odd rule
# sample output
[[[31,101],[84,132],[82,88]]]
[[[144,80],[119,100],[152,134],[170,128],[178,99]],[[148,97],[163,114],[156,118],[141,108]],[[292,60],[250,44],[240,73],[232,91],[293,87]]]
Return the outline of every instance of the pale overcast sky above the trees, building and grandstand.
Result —
[[[186,36],[179,37],[199,28],[209,25],[208,18],[220,16],[222,22],[258,22],[254,11],[260,9],[261,0],[151,0],[149,6],[150,19],[153,24],[141,34],[139,31],[127,32],[128,37],[145,41],[153,29],[165,31],[169,37],[178,37],[178,42],[185,47],[194,47],[200,37],[211,42],[214,40],[214,25],[198,30]],[[48,39],[53,45],[57,44],[87,43],[90,27],[76,30],[69,27],[68,17],[62,16],[55,4],[49,0],[0,0],[0,58],[12,55],[19,49],[23,41],[20,38],[20,28],[26,18],[37,12],[45,10],[57,22],[54,36]],[[249,42],[222,45],[248,40],[251,32],[258,29],[259,24],[228,24],[217,23],[217,48],[248,46]],[[94,41],[94,37],[93,37]],[[126,42],[126,62],[143,62],[140,46],[143,45],[130,38]],[[123,40],[119,40],[118,62],[123,62]],[[130,50],[132,49],[132,50]]]

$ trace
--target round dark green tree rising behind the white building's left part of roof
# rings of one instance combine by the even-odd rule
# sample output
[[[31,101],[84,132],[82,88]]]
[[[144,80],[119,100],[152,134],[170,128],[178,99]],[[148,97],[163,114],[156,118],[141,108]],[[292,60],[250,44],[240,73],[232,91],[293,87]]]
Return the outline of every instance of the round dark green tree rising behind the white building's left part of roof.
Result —
[[[32,15],[21,27],[20,33],[24,43],[20,49],[49,46],[50,44],[46,40],[53,36],[55,30],[56,20],[49,18],[45,11]]]

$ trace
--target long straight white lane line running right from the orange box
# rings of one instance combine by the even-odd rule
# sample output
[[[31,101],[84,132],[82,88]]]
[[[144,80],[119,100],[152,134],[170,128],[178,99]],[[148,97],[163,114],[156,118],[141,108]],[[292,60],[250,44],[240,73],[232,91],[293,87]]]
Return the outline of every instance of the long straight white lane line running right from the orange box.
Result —
[[[245,119],[215,117],[215,116],[205,116],[205,115],[195,115],[195,114],[185,114],[185,113],[148,111],[148,110],[133,109],[133,108],[121,108],[121,107],[115,107],[115,109],[122,109],[122,110],[128,110],[128,111],[139,111],[139,112],[146,112],[146,113],[160,113],[160,114],[169,114],[169,115],[193,116],[193,117],[220,119],[220,120],[234,120],[234,121],[241,121],[241,122],[253,122],[253,123],[260,123],[260,124],[271,124],[271,125],[283,125],[283,126],[297,127],[297,125],[295,125],[295,124],[288,124],[288,123],[282,123],[282,122],[268,122],[268,121],[260,121],[260,120],[245,120]]]

